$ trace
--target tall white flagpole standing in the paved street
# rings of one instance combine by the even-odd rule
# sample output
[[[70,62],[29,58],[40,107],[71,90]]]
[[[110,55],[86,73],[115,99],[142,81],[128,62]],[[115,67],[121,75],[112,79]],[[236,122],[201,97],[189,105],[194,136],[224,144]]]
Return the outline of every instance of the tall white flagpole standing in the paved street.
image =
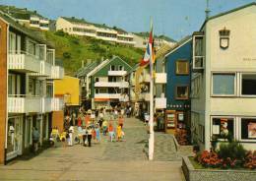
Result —
[[[153,21],[151,19],[151,29],[153,29]],[[153,33],[153,32],[152,32]],[[153,53],[153,52],[152,52]],[[149,139],[149,160],[154,158],[154,73],[153,73],[153,54],[151,53],[151,82],[150,82],[150,139]]]

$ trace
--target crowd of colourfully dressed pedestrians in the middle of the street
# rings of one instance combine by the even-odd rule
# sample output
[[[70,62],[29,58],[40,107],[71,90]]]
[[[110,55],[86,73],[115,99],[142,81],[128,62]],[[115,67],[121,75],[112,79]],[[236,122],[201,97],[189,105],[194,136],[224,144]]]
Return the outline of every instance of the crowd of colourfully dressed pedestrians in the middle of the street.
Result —
[[[63,147],[81,144],[92,147],[92,142],[100,143],[101,136],[108,136],[109,142],[124,141],[124,113],[121,110],[113,109],[106,112],[104,109],[85,111],[79,110],[77,118],[74,115],[67,115],[64,122],[64,132],[59,135]],[[51,140],[58,136],[56,128],[52,130]]]

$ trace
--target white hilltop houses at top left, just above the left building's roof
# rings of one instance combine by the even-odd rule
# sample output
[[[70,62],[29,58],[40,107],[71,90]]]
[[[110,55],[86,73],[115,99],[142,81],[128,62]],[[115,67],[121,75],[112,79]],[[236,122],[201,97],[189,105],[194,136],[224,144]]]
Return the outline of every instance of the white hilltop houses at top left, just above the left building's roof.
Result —
[[[0,5],[0,11],[18,21],[21,25],[35,30],[49,30],[49,20],[36,11],[27,8],[17,8],[15,6]]]

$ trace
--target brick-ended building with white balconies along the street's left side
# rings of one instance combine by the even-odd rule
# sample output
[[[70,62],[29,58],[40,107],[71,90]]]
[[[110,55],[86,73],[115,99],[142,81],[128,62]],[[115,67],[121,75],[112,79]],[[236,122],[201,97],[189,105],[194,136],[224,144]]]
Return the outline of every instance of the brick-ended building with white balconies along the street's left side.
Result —
[[[30,151],[32,127],[39,144],[48,139],[52,116],[62,111],[53,95],[54,79],[63,68],[55,65],[55,50],[5,14],[0,13],[1,100],[0,163]]]

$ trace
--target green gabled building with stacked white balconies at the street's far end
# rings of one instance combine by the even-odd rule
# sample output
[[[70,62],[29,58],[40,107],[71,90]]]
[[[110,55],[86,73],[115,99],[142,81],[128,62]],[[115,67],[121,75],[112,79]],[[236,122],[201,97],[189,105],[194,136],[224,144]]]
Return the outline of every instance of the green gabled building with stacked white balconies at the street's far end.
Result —
[[[124,76],[132,68],[118,56],[104,60],[87,74],[87,97],[92,108],[111,108],[128,101],[129,83]]]

